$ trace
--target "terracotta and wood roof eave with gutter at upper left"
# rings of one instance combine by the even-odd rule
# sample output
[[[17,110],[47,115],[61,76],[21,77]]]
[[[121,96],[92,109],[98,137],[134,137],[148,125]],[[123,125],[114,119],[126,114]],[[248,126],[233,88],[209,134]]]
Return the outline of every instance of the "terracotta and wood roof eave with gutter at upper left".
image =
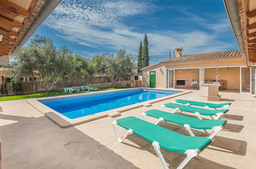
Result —
[[[15,54],[61,0],[0,0],[0,56]]]

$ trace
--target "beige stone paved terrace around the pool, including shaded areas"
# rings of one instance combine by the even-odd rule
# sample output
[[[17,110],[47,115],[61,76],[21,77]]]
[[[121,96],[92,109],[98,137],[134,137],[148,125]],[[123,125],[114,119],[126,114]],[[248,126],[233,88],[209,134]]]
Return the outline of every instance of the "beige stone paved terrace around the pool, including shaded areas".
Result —
[[[203,101],[200,91],[157,102],[122,113],[116,118],[102,118],[62,129],[26,100],[0,102],[2,167],[5,168],[162,168],[150,142],[135,135],[116,141],[111,122],[127,116],[141,118],[150,109],[174,99]],[[256,99],[249,94],[220,92],[223,101],[232,102],[224,119],[224,130],[200,156],[185,168],[256,168]],[[191,115],[191,114],[190,114]],[[156,119],[149,118],[155,122]],[[160,123],[166,128],[188,135],[181,125]],[[120,129],[123,135],[125,130]],[[205,136],[202,131],[195,131]],[[162,150],[170,168],[179,165],[185,155]]]

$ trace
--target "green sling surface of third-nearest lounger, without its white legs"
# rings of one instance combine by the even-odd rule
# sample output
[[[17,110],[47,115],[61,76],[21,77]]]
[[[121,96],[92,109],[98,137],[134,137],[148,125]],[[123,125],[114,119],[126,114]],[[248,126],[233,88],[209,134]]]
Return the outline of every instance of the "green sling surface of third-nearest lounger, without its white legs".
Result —
[[[188,105],[182,105],[182,104],[175,104],[175,103],[167,103],[164,104],[165,107],[167,108],[172,108],[172,109],[176,109],[179,108],[181,111],[185,111],[185,112],[190,112],[190,113],[195,113],[198,112],[202,115],[216,115],[217,113],[227,113],[228,109],[220,109],[220,110],[208,110],[208,109],[202,109],[202,108],[195,108],[195,107],[190,107]]]

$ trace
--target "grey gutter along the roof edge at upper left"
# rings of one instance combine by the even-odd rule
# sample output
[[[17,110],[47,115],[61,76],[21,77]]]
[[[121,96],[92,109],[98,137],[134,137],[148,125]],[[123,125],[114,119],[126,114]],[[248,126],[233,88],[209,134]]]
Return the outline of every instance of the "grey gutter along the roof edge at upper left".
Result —
[[[41,7],[40,11],[36,14],[32,24],[25,32],[18,45],[12,51],[12,55],[16,54],[19,49],[27,42],[27,40],[33,35],[38,27],[45,21],[45,19],[53,12],[53,10],[62,2],[62,0],[47,0]]]

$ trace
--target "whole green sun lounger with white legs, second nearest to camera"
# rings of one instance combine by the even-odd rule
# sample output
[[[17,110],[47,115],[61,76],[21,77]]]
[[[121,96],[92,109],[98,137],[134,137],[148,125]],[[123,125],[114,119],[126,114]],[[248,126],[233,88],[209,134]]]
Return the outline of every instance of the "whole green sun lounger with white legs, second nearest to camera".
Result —
[[[160,110],[149,110],[142,113],[142,117],[147,121],[146,116],[157,118],[156,125],[161,121],[168,121],[175,124],[180,124],[185,127],[188,133],[191,136],[195,136],[191,131],[193,129],[203,129],[206,134],[209,134],[209,138],[213,138],[220,130],[223,129],[223,126],[227,123],[227,120],[201,120],[198,118],[183,116],[174,113],[168,113]],[[210,134],[206,129],[213,130]]]

